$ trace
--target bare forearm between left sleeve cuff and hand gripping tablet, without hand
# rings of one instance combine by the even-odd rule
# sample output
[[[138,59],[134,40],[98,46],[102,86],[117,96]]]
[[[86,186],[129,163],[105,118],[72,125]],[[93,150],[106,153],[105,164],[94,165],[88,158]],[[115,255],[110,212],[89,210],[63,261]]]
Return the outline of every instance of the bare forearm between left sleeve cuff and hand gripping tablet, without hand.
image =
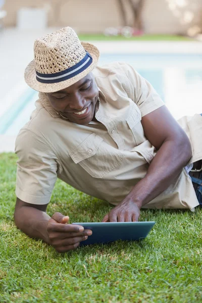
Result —
[[[22,206],[15,210],[14,219],[16,226],[31,238],[42,239],[48,243],[46,226],[49,217],[33,207]]]

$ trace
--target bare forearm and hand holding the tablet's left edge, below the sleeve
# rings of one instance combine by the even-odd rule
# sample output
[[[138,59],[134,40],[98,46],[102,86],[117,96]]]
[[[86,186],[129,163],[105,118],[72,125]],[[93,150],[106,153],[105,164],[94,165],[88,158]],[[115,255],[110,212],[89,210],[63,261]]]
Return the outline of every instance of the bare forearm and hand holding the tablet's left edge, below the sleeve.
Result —
[[[66,224],[69,217],[61,213],[48,216],[46,208],[47,204],[32,205],[17,198],[14,213],[16,226],[29,237],[52,245],[58,252],[75,249],[92,234],[91,230],[84,230],[82,226]]]

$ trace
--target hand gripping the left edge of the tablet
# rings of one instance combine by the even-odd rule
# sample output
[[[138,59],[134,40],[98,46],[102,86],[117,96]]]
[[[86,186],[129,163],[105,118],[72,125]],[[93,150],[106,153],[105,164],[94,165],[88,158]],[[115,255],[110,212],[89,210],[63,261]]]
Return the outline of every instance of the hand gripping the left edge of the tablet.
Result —
[[[58,252],[65,252],[77,248],[81,241],[84,241],[92,234],[92,231],[79,225],[66,224],[69,222],[68,216],[55,213],[48,220],[47,234],[48,243]]]

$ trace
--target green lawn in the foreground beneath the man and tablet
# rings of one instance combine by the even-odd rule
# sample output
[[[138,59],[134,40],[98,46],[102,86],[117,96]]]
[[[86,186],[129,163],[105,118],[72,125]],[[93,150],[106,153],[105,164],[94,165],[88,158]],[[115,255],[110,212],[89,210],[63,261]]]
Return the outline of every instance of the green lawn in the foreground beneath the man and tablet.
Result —
[[[57,253],[14,224],[16,156],[0,154],[0,302],[202,302],[202,212],[141,212],[140,242]],[[48,213],[99,221],[110,206],[58,181]]]

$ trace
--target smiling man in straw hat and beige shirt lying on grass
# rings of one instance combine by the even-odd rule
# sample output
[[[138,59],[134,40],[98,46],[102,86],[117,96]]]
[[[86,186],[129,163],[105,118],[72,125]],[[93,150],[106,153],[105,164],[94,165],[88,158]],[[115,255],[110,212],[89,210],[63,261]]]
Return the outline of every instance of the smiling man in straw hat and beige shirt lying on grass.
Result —
[[[91,231],[46,214],[57,177],[115,205],[103,222],[138,221],[141,208],[199,205],[188,172],[202,159],[202,117],[180,121],[186,134],[132,67],[98,68],[98,57],[67,27],[35,41],[25,71],[39,99],[16,140],[15,223],[59,252]]]

